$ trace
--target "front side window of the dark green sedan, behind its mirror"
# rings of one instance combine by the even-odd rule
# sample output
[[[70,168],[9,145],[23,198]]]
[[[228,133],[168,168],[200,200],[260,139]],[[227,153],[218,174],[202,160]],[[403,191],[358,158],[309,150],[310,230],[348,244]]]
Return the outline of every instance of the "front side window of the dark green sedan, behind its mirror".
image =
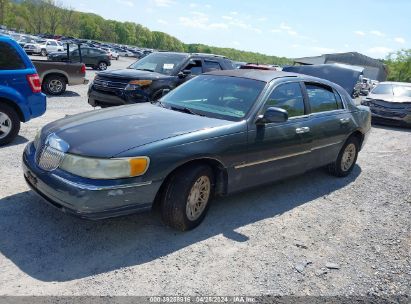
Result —
[[[288,117],[304,115],[304,98],[298,82],[281,84],[274,89],[265,104],[264,110],[277,107],[287,110]]]

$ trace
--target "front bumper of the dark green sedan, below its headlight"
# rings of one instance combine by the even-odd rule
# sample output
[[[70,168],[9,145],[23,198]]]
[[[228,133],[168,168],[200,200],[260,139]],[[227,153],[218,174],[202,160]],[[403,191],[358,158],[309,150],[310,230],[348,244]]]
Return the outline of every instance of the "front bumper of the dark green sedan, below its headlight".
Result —
[[[35,162],[29,143],[23,153],[27,184],[49,204],[63,212],[87,219],[116,217],[150,209],[161,181],[91,180],[63,170],[47,172]]]

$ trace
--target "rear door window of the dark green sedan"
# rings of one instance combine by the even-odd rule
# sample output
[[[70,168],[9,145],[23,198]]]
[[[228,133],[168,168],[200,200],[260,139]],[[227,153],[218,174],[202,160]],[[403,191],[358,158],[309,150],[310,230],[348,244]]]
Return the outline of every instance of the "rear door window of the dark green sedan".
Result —
[[[330,87],[317,84],[306,84],[305,87],[307,88],[312,113],[338,109],[336,96]]]

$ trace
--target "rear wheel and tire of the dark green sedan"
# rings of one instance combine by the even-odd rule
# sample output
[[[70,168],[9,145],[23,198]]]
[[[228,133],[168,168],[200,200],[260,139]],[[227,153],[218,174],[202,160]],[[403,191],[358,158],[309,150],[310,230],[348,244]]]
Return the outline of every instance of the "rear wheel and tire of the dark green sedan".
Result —
[[[336,161],[328,165],[328,172],[337,177],[345,177],[350,174],[357,162],[359,148],[358,138],[349,137],[338,153]]]

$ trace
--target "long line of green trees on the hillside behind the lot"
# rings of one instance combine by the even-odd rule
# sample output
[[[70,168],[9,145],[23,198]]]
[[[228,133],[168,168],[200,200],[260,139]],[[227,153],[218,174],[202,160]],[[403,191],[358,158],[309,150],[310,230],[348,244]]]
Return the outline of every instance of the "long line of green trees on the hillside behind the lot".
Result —
[[[96,14],[75,11],[58,0],[0,0],[0,24],[31,34],[64,35],[157,50],[215,53],[245,62],[292,64],[292,60],[285,57],[185,44],[166,33],[150,31],[141,24],[106,20]]]

